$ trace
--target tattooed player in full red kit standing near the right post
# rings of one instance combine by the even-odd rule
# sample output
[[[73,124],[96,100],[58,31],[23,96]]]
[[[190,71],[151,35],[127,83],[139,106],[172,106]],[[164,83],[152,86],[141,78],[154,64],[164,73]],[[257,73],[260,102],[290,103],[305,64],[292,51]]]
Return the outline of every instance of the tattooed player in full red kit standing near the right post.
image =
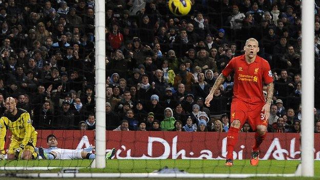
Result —
[[[234,73],[233,98],[231,103],[231,126],[227,134],[227,166],[233,165],[233,149],[238,139],[239,129],[247,121],[255,131],[250,164],[258,165],[259,146],[266,137],[270,105],[273,96],[273,78],[269,63],[257,56],[259,44],[249,38],[244,47],[245,54],[234,57],[216,79],[205,104],[210,106],[214,92]],[[263,84],[267,85],[267,100],[263,96]]]

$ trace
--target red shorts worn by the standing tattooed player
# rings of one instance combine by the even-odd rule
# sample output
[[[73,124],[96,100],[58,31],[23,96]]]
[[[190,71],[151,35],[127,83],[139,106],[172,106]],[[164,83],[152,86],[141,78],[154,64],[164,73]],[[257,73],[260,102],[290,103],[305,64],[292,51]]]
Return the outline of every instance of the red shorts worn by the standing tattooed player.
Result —
[[[265,119],[264,111],[261,111],[265,103],[249,104],[243,101],[232,101],[231,103],[231,122],[235,119],[241,122],[240,129],[247,121],[252,130],[255,131],[257,125],[268,127],[268,119]]]

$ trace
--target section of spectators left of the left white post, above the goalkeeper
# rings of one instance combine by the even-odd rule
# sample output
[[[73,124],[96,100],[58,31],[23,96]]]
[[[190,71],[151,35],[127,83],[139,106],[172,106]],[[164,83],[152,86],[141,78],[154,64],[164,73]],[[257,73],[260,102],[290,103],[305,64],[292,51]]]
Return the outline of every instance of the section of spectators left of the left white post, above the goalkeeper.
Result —
[[[0,2],[0,114],[4,99],[36,129],[94,129],[94,1]],[[93,119],[92,119],[93,117]]]

